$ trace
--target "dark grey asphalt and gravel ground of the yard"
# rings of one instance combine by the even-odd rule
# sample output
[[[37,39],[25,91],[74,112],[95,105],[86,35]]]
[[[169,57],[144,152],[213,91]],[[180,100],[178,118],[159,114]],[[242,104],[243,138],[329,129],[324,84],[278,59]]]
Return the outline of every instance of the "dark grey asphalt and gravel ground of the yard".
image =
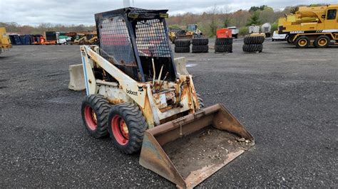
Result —
[[[212,40],[210,40],[212,46]],[[338,187],[338,48],[264,43],[263,53],[175,54],[205,105],[225,104],[255,147],[200,187]],[[0,55],[1,188],[165,187],[173,183],[88,136],[84,92],[68,90],[78,46],[14,46]]]

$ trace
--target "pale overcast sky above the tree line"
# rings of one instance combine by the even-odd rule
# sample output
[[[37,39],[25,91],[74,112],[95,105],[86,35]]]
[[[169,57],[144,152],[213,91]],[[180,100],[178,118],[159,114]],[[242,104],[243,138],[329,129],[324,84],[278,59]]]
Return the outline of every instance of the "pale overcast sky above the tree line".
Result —
[[[193,12],[203,13],[212,6],[218,9],[250,9],[266,4],[278,10],[297,4],[333,4],[338,0],[130,0],[130,6],[143,9],[169,9],[170,15]],[[94,25],[94,13],[123,8],[123,0],[0,0],[0,22],[16,22],[37,26],[39,23]]]

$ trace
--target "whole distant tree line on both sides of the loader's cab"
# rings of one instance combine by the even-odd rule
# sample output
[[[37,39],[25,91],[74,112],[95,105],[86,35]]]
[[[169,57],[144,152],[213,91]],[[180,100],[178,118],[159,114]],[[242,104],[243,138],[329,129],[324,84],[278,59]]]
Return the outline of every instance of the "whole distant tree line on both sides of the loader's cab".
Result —
[[[322,6],[324,4],[312,4],[309,6]],[[299,5],[304,6],[304,5]],[[285,16],[286,13],[295,13],[298,6],[287,6],[283,10],[274,10],[270,6],[252,6],[249,10],[237,10],[230,12],[229,7],[219,8],[213,6],[209,11],[203,13],[184,13],[169,16],[168,25],[172,28],[185,28],[187,24],[197,23],[200,31],[205,36],[215,36],[217,28],[226,28],[229,26],[237,26],[240,29],[240,35],[248,32],[247,26],[261,25],[263,23],[271,23],[272,30],[277,30],[278,18]],[[5,27],[7,32],[19,34],[44,34],[45,31],[93,31],[96,26],[79,25],[63,25],[41,23],[39,26],[19,25],[15,22],[0,22],[0,27]]]

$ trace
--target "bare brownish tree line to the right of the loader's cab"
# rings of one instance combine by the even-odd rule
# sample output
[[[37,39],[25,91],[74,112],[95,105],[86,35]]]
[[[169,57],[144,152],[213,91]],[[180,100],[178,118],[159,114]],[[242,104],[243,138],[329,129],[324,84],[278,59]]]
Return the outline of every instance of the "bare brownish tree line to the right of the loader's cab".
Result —
[[[205,36],[215,36],[217,28],[236,26],[240,29],[240,35],[248,33],[247,26],[271,23],[272,31],[278,28],[278,19],[287,13],[295,13],[299,6],[322,6],[324,4],[287,6],[282,10],[274,10],[267,5],[252,6],[249,10],[237,10],[230,12],[229,7],[218,8],[213,6],[203,13],[184,13],[169,16],[168,25],[172,28],[185,28],[187,24],[197,23],[200,31]]]

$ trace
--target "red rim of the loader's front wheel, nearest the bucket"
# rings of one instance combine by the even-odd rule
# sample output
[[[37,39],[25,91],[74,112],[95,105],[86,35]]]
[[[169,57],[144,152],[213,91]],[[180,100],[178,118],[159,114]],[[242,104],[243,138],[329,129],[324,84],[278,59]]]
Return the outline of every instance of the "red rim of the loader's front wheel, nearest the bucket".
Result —
[[[111,130],[118,144],[126,145],[129,141],[129,131],[126,122],[119,115],[111,119]]]

